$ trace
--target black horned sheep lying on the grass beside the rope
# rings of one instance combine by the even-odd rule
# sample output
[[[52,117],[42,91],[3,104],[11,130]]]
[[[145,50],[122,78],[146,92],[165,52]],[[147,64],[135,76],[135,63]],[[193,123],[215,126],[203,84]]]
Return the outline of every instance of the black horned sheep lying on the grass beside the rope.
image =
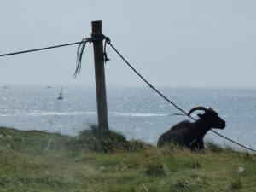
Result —
[[[199,119],[195,123],[183,121],[172,126],[169,131],[159,137],[158,147],[162,147],[165,143],[177,143],[179,146],[199,151],[204,149],[203,137],[207,131],[212,128],[224,129],[224,119],[221,119],[212,108],[196,107],[192,108],[188,114],[190,115],[196,110],[203,110],[205,113],[197,114]]]

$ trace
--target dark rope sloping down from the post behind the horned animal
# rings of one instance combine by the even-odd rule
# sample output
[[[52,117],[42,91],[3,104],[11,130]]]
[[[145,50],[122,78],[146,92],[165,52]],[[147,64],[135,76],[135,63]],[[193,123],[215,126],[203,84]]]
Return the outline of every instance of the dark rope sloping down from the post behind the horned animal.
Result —
[[[138,73],[137,70],[136,70],[134,67],[132,67],[131,64],[130,64],[128,61],[125,60],[124,56],[121,55],[121,54],[119,53],[119,51],[114,48],[113,44],[111,44],[110,41],[108,41],[108,44],[109,44],[109,45],[113,48],[113,50],[121,57],[121,59],[122,59],[123,61],[125,61],[125,63],[131,68],[131,70],[132,70],[133,72],[137,73],[137,75],[138,75],[141,79],[143,79],[143,81],[144,81],[146,84],[148,84],[148,86],[149,86],[151,89],[153,89],[155,92],[157,92],[157,93],[158,93],[161,97],[163,97],[167,102],[171,103],[172,106],[174,106],[174,107],[177,108],[179,111],[181,111],[182,113],[184,113],[185,115],[187,115],[190,119],[193,119],[193,120],[196,121],[195,118],[191,117],[191,116],[190,116],[188,113],[186,113],[182,108],[179,108],[174,102],[172,102],[170,99],[168,99],[166,96],[164,96],[164,95],[163,95],[159,90],[157,90],[152,84],[150,84],[150,83],[148,82],[148,80],[146,80],[145,78],[143,78],[143,76],[142,76],[140,73]],[[211,131],[212,131],[213,133],[217,134],[219,137],[223,137],[224,139],[230,141],[231,143],[235,143],[236,145],[239,145],[241,148],[247,148],[248,150],[251,150],[251,151],[253,151],[253,152],[256,152],[256,150],[254,150],[253,148],[248,148],[247,146],[242,145],[241,143],[237,143],[237,142],[231,140],[231,139],[228,138],[228,137],[224,137],[223,135],[219,134],[219,133],[216,132],[216,131],[213,131],[213,130],[211,130]]]

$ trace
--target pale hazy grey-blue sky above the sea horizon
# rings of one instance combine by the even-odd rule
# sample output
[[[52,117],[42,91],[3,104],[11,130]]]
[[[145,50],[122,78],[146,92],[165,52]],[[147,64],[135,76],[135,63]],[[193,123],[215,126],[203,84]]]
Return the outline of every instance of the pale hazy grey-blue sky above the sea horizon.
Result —
[[[90,37],[92,20],[157,86],[255,86],[254,0],[1,0],[0,54]],[[92,44],[0,57],[0,84],[94,85]],[[143,81],[108,47],[109,85]]]

